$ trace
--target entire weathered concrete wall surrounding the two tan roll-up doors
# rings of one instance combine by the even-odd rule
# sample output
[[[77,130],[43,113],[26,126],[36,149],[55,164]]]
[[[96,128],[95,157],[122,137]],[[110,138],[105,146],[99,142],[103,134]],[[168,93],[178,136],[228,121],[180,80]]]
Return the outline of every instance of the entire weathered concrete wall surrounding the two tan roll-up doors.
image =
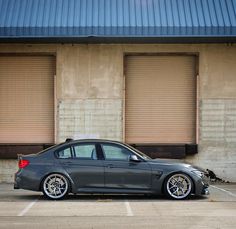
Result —
[[[124,139],[125,54],[198,54],[199,153],[186,161],[236,181],[236,46],[1,44],[0,52],[56,55],[56,142],[66,137]],[[15,164],[3,164],[0,181],[12,180]]]

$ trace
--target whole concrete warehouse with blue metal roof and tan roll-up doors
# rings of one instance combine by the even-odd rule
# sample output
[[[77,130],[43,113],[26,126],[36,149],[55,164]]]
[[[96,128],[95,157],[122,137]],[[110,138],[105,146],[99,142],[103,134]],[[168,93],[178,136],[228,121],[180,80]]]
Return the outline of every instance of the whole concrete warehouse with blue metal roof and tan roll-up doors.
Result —
[[[0,182],[17,153],[126,141],[236,182],[235,0],[0,1]]]

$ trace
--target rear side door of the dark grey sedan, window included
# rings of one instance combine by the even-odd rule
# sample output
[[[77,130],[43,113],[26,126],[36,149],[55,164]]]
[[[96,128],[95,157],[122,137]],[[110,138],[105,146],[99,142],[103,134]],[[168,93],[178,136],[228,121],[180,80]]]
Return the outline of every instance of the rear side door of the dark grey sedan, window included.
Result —
[[[61,158],[61,155],[71,153],[71,158]],[[79,143],[58,152],[60,163],[74,181],[76,189],[103,188],[104,166],[98,158],[95,143]]]

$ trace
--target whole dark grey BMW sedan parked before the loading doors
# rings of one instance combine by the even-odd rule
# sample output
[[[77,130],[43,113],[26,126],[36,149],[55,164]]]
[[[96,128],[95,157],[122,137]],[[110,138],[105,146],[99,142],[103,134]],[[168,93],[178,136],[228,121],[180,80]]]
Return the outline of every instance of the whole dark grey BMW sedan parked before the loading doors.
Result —
[[[69,193],[165,194],[177,200],[208,194],[204,171],[151,159],[109,140],[67,140],[38,154],[18,155],[15,189],[42,191],[49,199]]]

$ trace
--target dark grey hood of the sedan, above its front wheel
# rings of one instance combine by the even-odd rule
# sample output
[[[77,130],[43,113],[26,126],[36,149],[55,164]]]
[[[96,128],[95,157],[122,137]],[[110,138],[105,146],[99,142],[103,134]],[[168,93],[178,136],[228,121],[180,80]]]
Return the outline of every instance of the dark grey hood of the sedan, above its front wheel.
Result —
[[[191,164],[188,164],[188,163],[183,163],[181,160],[176,160],[176,159],[160,159],[160,158],[157,158],[157,159],[150,159],[148,160],[149,164],[151,166],[157,166],[157,165],[160,165],[160,166],[177,166],[177,167],[184,167],[186,169],[194,169],[194,170],[199,170],[201,172],[205,172],[205,169],[203,168],[200,168],[198,166],[195,166],[195,165],[191,165]]]

